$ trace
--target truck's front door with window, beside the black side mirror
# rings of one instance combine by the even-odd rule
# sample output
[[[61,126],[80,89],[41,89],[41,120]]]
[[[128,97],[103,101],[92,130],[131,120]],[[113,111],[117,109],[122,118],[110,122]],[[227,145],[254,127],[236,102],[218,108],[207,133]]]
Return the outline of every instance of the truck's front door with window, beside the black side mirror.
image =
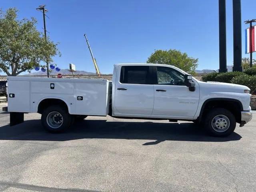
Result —
[[[154,67],[154,110],[152,116],[170,118],[194,117],[199,102],[199,87],[190,91],[184,74],[170,67]]]

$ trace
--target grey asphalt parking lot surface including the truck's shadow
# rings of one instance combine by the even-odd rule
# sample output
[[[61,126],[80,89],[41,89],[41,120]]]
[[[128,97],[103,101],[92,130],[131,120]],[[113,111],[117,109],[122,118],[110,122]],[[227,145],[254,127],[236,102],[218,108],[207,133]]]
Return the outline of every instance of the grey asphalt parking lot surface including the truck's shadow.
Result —
[[[62,134],[0,112],[0,191],[256,191],[256,113],[227,138],[192,122],[89,116]]]

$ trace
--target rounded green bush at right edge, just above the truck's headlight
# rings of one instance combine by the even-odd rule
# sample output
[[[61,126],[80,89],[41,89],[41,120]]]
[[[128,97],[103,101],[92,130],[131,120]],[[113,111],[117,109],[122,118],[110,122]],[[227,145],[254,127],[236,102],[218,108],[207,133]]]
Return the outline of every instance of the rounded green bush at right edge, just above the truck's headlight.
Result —
[[[248,74],[242,74],[234,77],[231,83],[245,85],[250,88],[251,93],[256,91],[256,75],[250,76]]]

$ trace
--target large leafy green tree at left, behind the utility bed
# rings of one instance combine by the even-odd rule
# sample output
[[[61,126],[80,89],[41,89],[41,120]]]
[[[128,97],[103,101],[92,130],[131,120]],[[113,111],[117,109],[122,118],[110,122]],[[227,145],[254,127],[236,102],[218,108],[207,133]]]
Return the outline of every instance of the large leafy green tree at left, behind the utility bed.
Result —
[[[0,72],[16,76],[40,66],[40,62],[52,62],[52,56],[60,55],[57,44],[36,29],[35,18],[17,19],[18,10],[0,10]]]

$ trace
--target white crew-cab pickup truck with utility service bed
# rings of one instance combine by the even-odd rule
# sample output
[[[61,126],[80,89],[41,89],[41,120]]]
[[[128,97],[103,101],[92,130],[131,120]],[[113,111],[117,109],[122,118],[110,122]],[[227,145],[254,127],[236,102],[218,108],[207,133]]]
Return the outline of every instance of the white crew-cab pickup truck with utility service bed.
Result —
[[[60,132],[86,116],[192,121],[213,136],[231,134],[252,119],[250,89],[201,82],[162,64],[116,64],[104,79],[8,77],[10,125],[40,113],[44,128]]]

